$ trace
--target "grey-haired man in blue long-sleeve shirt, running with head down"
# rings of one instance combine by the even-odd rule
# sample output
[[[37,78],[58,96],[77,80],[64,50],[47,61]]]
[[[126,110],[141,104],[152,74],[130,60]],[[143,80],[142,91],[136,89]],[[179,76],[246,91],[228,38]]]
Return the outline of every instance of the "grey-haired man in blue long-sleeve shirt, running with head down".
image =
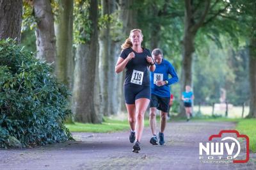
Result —
[[[170,85],[179,81],[177,73],[172,64],[163,59],[163,52],[160,49],[152,51],[152,57],[156,63],[156,70],[150,72],[150,86],[151,86],[151,99],[150,99],[150,128],[152,137],[150,143],[153,145],[158,144],[156,135],[156,112],[157,109],[161,111],[159,144],[164,144],[164,128],[166,126],[167,112],[170,102]],[[169,78],[169,75],[172,77]]]

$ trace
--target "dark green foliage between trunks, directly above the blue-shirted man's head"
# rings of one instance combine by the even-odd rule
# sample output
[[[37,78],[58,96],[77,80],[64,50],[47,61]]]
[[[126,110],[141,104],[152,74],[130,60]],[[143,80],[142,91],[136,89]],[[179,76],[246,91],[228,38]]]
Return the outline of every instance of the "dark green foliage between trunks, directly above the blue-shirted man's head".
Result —
[[[143,43],[150,48],[150,39],[158,33],[159,48],[179,72],[181,66],[181,40],[184,31],[183,1],[136,1],[131,8],[138,8],[138,25],[143,31]],[[152,49],[151,49],[152,50]]]

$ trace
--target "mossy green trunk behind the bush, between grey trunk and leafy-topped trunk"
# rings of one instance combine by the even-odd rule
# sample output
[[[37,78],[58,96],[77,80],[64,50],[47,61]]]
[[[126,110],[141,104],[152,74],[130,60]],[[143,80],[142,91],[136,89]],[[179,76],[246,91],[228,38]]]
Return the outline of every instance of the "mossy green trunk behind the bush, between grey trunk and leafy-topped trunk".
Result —
[[[74,58],[72,55],[73,40],[73,1],[59,0],[58,20],[55,24],[56,35],[56,75],[68,89],[72,89]]]

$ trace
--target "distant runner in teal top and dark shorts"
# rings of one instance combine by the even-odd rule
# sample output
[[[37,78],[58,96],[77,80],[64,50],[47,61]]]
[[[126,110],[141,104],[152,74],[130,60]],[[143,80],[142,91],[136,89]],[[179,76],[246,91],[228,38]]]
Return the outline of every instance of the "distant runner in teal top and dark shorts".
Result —
[[[192,103],[194,100],[193,91],[191,91],[190,86],[186,86],[186,91],[182,92],[182,100],[184,102],[184,107],[186,110],[187,121],[192,117]]]

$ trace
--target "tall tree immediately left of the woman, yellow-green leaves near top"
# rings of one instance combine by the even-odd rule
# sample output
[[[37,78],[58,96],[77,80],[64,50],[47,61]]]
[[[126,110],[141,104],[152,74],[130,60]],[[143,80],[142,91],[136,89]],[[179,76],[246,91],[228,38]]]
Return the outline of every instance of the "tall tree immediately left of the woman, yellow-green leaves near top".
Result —
[[[102,18],[106,24],[104,24],[105,29],[102,29],[100,33],[101,55],[99,67],[101,69],[102,99],[106,102],[102,102],[102,111],[104,111],[105,115],[117,114],[120,112],[120,106],[124,105],[123,102],[120,102],[123,97],[120,96],[122,90],[119,90],[123,89],[122,74],[116,74],[113,68],[115,68],[115,63],[120,55],[120,45],[127,36],[124,35],[124,29],[127,29],[126,23],[128,22],[123,17],[127,17],[128,13],[127,19],[131,17],[130,20],[136,20],[134,15],[136,10],[132,8],[134,1],[120,1],[119,3],[116,4],[113,0],[102,1]],[[127,12],[125,15],[124,11]],[[117,105],[118,103],[121,105]]]

